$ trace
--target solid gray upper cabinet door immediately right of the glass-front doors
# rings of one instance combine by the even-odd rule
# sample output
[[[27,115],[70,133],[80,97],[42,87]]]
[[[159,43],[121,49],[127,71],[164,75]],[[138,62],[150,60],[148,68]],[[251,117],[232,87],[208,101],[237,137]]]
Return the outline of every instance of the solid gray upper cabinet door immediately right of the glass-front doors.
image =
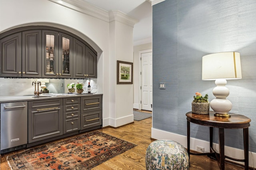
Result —
[[[74,78],[86,78],[86,74],[85,74],[86,45],[77,39],[74,39],[73,56],[74,56],[74,64],[73,64]]]

